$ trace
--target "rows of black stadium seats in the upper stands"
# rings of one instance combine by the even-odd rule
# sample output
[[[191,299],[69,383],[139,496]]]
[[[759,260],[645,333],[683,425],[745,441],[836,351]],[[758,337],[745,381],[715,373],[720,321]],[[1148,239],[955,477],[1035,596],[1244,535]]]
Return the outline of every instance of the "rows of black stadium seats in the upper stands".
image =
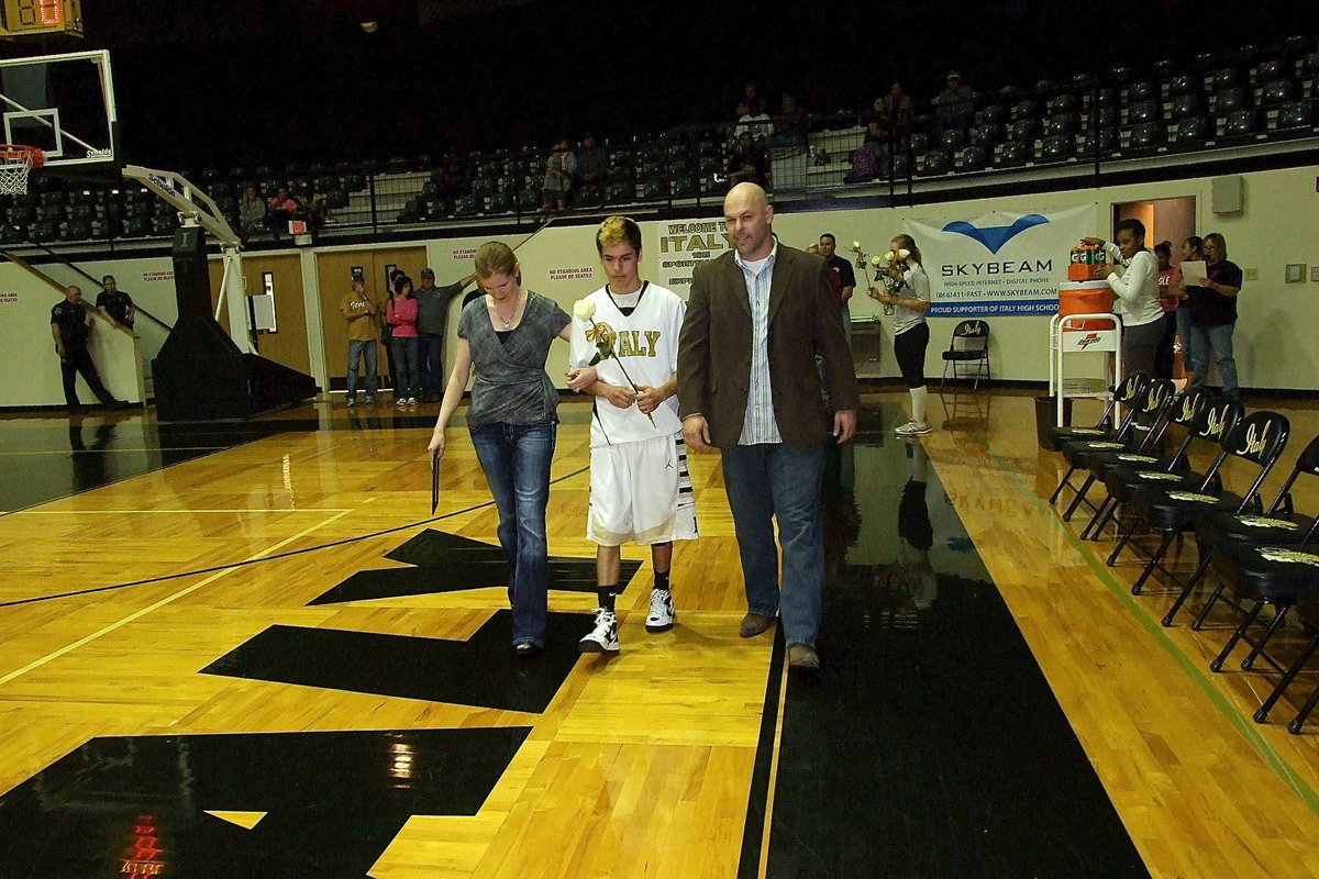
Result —
[[[918,104],[910,136],[865,179],[856,179],[851,161],[863,144],[865,115],[815,115],[802,142],[765,145],[769,183],[780,202],[874,196],[919,203],[976,188],[989,194],[1026,179],[1039,190],[1066,190],[1100,174],[1186,177],[1195,165],[1260,157],[1295,163],[1319,144],[1316,83],[1319,42],[1295,36],[1269,47],[1242,46],[1228,61],[1202,54],[1187,65],[1162,61],[1067,82],[983,88],[966,130],[936,136],[929,105]],[[571,212],[715,208],[727,190],[731,129],[720,123],[604,142],[609,182],[578,187]],[[318,237],[388,239],[437,225],[534,221],[545,156],[539,146],[510,146],[182,174],[215,199],[235,229],[244,187],[255,186],[264,200],[288,187]],[[171,206],[127,181],[90,184],[42,174],[33,175],[28,195],[0,198],[0,244],[17,250],[160,246],[179,223]],[[247,241],[249,248],[286,242],[266,231]]]

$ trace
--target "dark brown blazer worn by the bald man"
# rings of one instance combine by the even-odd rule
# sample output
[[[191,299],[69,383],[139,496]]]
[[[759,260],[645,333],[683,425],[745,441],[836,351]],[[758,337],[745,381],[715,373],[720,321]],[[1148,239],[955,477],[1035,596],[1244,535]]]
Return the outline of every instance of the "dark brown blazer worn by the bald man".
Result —
[[[751,389],[751,299],[729,250],[696,266],[678,341],[678,411],[703,415],[719,448],[737,445]],[[769,381],[778,432],[795,452],[830,438],[815,354],[835,410],[857,409],[856,370],[820,257],[778,245],[769,287]]]

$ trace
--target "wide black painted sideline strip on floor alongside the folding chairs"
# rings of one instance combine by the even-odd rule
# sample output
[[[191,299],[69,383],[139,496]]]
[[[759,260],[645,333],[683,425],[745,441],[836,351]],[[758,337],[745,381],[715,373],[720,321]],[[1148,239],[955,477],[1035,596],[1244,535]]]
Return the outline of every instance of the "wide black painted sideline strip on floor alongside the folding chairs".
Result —
[[[826,539],[824,669],[787,679],[765,875],[1149,876],[919,443],[863,439],[826,486],[826,527],[859,539]],[[740,879],[772,746],[765,726]]]

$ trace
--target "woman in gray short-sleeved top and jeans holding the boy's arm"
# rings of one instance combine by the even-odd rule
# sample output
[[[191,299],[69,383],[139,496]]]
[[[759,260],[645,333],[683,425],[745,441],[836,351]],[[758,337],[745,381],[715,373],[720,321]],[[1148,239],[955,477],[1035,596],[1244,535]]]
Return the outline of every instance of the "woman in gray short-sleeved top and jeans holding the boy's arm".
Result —
[[[553,299],[522,290],[517,258],[506,244],[483,244],[475,268],[485,295],[468,303],[459,318],[454,372],[429,448],[433,455],[445,453],[445,428],[475,365],[467,430],[499,507],[513,652],[530,656],[545,650],[550,588],[545,507],[559,403],[545,374],[545,358],[555,339],[570,339],[571,318]]]

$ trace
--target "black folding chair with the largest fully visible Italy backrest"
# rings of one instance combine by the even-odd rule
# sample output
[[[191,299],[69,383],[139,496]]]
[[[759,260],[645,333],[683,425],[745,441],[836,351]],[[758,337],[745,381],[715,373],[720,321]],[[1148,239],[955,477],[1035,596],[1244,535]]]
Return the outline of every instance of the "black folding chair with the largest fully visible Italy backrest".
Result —
[[[1269,470],[1278,463],[1278,456],[1286,448],[1290,431],[1290,423],[1278,412],[1254,412],[1246,415],[1236,423],[1232,432],[1223,440],[1217,457],[1210,469],[1206,470],[1204,480],[1198,488],[1148,488],[1134,492],[1130,498],[1130,506],[1134,511],[1132,523],[1122,535],[1122,539],[1113,548],[1113,553],[1108,556],[1108,564],[1117,564],[1119,556],[1126,544],[1130,543],[1132,536],[1141,525],[1148,525],[1159,531],[1162,539],[1150,555],[1149,563],[1145,565],[1141,576],[1132,586],[1132,594],[1140,594],[1145,582],[1158,569],[1162,569],[1170,577],[1173,576],[1170,571],[1162,568],[1163,555],[1167,552],[1174,538],[1179,536],[1183,531],[1194,528],[1200,517],[1208,515],[1215,510],[1246,511],[1252,501],[1257,498],[1260,486],[1269,476]],[[1241,496],[1227,490],[1212,490],[1212,484],[1219,469],[1231,457],[1241,459],[1258,468],[1249,490]]]

